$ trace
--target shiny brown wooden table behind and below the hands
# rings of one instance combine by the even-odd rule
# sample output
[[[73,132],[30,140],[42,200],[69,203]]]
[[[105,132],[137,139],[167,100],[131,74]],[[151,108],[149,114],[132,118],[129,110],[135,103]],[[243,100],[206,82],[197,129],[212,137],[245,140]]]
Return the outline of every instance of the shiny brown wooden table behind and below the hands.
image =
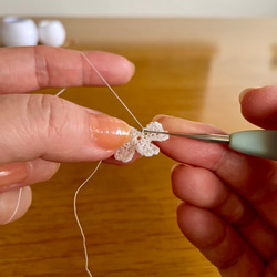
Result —
[[[135,76],[115,90],[143,124],[164,113],[228,132],[252,127],[239,113],[239,92],[277,80],[275,19],[62,21],[68,48],[112,51],[135,63]],[[105,88],[69,89],[63,98],[135,124]],[[219,276],[178,230],[173,164],[162,155],[123,167],[104,164],[81,191],[93,276]],[[1,227],[1,276],[88,276],[73,195],[94,166],[63,164],[52,181],[33,186],[29,213]]]

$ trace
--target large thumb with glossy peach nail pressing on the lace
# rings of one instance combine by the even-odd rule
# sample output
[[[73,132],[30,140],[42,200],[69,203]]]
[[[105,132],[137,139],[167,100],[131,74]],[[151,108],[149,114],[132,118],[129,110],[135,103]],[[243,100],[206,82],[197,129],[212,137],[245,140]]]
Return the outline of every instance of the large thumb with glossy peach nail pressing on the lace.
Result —
[[[0,95],[0,164],[98,161],[130,137],[115,117],[47,94]]]

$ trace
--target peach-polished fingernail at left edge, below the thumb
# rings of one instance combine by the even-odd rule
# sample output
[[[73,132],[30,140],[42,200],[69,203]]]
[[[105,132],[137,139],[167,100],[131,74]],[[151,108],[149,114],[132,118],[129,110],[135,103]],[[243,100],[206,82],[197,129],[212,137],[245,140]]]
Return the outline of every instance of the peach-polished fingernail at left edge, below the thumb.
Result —
[[[29,177],[29,174],[30,166],[28,163],[0,165],[0,186],[21,183]]]

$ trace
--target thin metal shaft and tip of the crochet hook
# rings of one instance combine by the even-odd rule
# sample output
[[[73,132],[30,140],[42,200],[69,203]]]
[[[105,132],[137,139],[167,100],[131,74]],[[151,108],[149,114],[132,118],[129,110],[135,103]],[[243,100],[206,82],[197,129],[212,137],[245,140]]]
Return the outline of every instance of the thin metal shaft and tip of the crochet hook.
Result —
[[[222,135],[222,134],[182,134],[182,133],[171,133],[166,131],[163,132],[163,131],[150,131],[150,130],[143,130],[141,132],[183,136],[183,137],[194,138],[194,140],[205,141],[205,142],[215,142],[215,143],[224,143],[224,144],[229,143],[229,135]]]

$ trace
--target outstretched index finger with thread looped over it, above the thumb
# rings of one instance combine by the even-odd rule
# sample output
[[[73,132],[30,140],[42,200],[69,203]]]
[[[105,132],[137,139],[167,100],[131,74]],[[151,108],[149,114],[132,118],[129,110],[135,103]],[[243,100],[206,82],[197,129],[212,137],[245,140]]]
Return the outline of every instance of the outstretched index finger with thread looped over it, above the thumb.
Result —
[[[105,80],[126,83],[134,65],[125,58],[101,51],[83,52]],[[81,52],[51,47],[1,48],[0,94],[45,88],[103,85]]]

